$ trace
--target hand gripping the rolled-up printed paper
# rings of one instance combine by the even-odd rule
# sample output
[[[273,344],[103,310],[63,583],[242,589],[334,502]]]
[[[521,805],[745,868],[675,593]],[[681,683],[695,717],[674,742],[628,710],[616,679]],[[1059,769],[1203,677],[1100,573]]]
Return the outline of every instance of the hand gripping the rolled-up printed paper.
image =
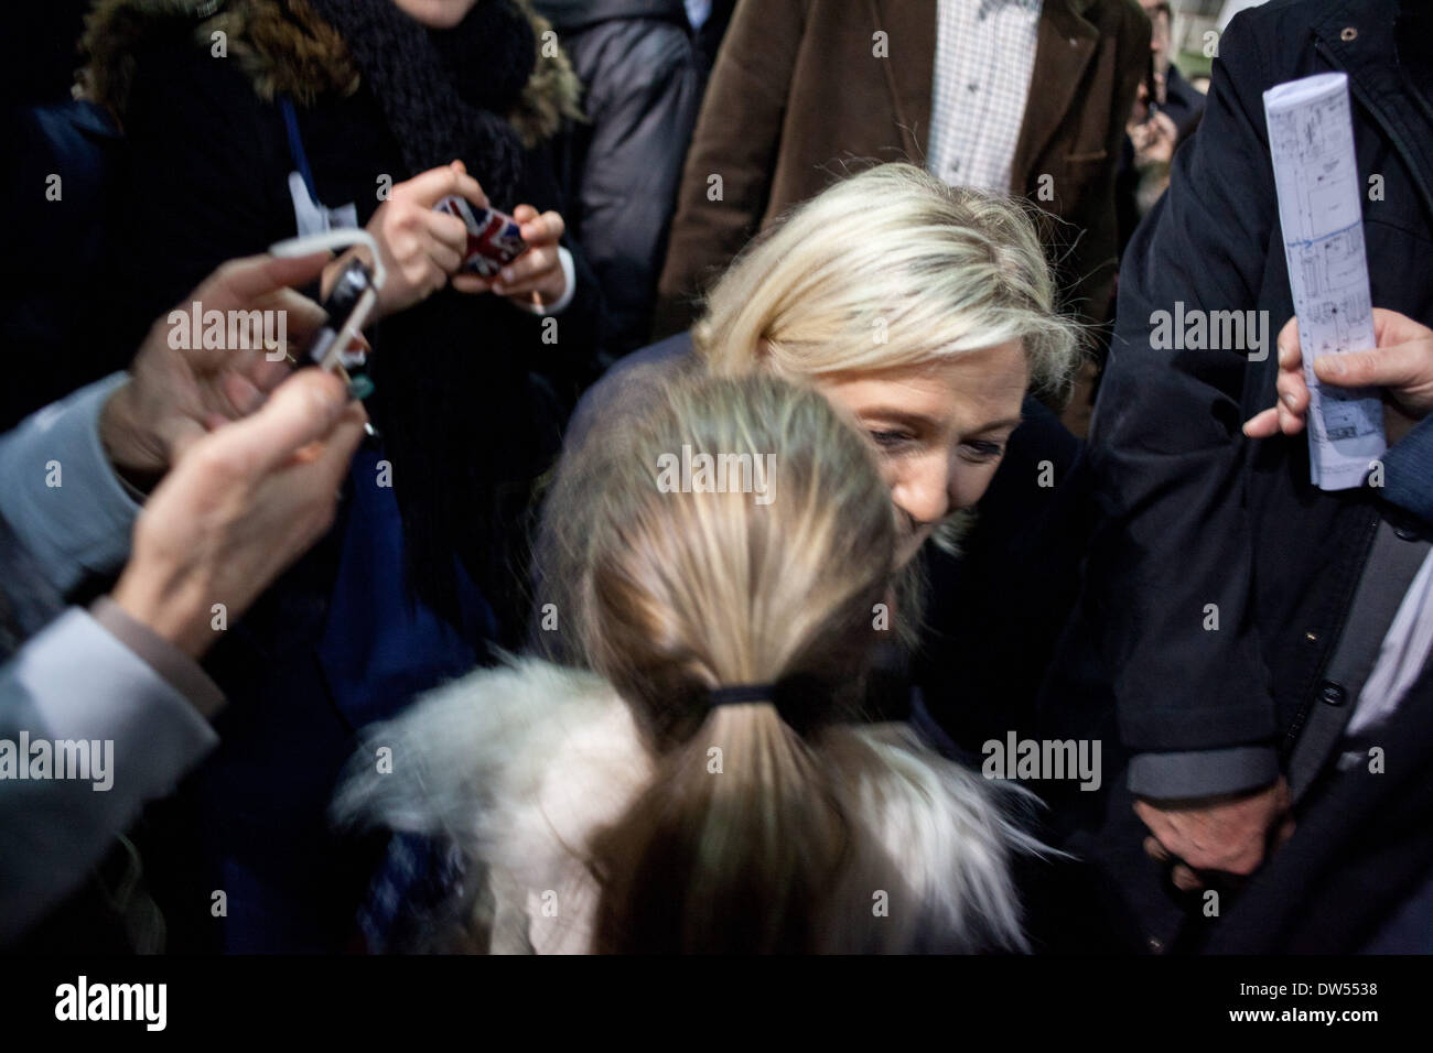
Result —
[[[1433,408],[1433,330],[1397,311],[1376,307],[1373,334],[1373,350],[1315,358],[1314,375],[1321,384],[1383,388],[1383,427],[1391,446]],[[1244,434],[1250,438],[1270,438],[1281,431],[1297,436],[1304,430],[1308,384],[1304,381],[1297,318],[1290,318],[1278,334],[1278,381],[1274,388],[1278,403],[1244,423]]]

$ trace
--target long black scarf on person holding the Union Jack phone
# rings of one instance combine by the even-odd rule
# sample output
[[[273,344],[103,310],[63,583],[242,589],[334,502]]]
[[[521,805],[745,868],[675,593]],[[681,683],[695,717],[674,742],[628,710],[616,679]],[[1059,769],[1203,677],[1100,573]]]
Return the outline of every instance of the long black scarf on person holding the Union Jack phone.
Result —
[[[503,115],[532,76],[532,23],[510,0],[479,0],[451,30],[428,30],[391,0],[310,0],[363,70],[417,175],[461,158],[490,201],[519,203],[523,150]],[[543,202],[533,202],[542,206]],[[556,421],[527,362],[536,319],[492,295],[444,289],[384,319],[370,398],[393,461],[410,580],[460,625],[454,556],[509,630],[522,626],[523,513],[556,453]]]

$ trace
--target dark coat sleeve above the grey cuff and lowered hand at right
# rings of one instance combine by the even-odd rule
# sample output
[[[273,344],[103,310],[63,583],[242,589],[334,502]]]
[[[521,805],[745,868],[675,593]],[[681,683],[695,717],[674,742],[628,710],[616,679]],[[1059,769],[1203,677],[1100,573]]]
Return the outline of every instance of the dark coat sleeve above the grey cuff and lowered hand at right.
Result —
[[[1105,626],[1121,734],[1135,751],[1267,749],[1275,732],[1251,615],[1241,433],[1245,371],[1270,364],[1152,340],[1155,312],[1176,301],[1204,311],[1257,304],[1277,216],[1261,76],[1235,23],[1205,125],[1176,155],[1169,192],[1125,258],[1089,440],[1101,517],[1089,599]],[[1211,603],[1218,630],[1204,628]]]

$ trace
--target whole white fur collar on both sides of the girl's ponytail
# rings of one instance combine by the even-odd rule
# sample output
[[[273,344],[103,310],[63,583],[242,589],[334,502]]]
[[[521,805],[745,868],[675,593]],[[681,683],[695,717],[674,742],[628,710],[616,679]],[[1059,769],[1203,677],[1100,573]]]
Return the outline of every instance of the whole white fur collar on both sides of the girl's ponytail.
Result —
[[[843,725],[821,759],[871,850],[843,875],[840,901],[867,911],[877,888],[898,904],[867,950],[1026,946],[1010,861],[1048,851],[1016,821],[1027,795],[931,754],[907,725]],[[470,673],[368,728],[332,815],[342,827],[456,845],[486,884],[469,888],[479,901],[464,910],[469,924],[490,933],[487,950],[585,953],[600,893],[589,845],[655,771],[610,683],[522,659]],[[848,948],[850,933],[834,938]]]

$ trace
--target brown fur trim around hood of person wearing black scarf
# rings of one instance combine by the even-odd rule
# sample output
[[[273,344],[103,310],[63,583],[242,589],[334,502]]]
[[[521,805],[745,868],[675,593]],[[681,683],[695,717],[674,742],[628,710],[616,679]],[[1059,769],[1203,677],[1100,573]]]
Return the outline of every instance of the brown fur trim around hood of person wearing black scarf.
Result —
[[[524,146],[552,138],[563,119],[582,119],[582,85],[550,23],[529,0],[516,0],[537,37],[537,64],[517,107],[504,115]],[[135,54],[160,32],[191,26],[195,47],[209,50],[225,34],[231,60],[259,99],[279,95],[311,105],[324,95],[358,90],[360,70],[338,32],[304,0],[96,0],[86,17],[79,93],[110,109],[120,123],[129,103]]]

